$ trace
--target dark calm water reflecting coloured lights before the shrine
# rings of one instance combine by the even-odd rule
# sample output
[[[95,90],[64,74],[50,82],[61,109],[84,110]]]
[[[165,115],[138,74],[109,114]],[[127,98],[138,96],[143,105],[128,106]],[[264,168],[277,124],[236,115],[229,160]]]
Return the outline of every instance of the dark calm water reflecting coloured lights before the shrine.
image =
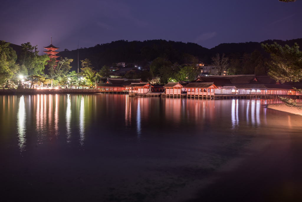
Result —
[[[0,96],[0,201],[302,201],[278,102]]]

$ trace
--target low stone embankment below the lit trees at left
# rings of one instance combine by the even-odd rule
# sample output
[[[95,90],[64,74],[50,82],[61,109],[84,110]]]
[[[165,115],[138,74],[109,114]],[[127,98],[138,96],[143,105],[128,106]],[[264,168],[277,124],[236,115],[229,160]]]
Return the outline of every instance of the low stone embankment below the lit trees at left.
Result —
[[[0,95],[95,94],[95,89],[0,89]]]

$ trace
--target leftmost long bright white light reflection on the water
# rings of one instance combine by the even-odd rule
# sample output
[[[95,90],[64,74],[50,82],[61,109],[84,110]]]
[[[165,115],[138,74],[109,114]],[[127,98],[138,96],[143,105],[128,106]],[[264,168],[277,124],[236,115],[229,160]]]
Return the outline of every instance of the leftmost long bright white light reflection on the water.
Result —
[[[25,102],[24,102],[24,96],[20,97],[19,101],[19,107],[18,107],[18,114],[17,114],[17,129],[18,129],[18,141],[19,141],[19,148],[20,152],[24,151],[25,147],[25,123],[26,123],[26,112],[25,112]]]

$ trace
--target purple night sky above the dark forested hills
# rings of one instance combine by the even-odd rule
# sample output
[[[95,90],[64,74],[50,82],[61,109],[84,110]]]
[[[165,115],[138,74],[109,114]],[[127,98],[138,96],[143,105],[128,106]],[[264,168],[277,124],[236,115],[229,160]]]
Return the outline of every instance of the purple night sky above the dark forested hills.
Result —
[[[3,1],[0,40],[75,50],[117,40],[220,43],[302,37],[302,1]],[[302,44],[300,44],[302,45]]]

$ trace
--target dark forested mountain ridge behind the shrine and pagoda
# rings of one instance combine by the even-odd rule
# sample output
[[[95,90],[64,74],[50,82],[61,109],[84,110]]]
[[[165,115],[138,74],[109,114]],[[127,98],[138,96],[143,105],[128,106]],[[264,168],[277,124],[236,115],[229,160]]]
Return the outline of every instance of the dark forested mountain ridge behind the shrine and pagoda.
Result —
[[[147,41],[112,41],[107,44],[97,44],[94,47],[80,48],[79,60],[88,58],[92,61],[92,65],[96,70],[101,69],[104,65],[111,66],[112,63],[125,62],[127,64],[135,64],[141,67],[146,66],[157,57],[163,57],[170,60],[172,63],[178,62],[190,63],[186,55],[194,55],[199,61],[211,63],[211,57],[217,53],[225,53],[227,56],[231,54],[243,55],[244,53],[251,54],[254,50],[259,50],[260,53],[268,58],[269,54],[265,53],[261,44],[273,44],[277,42],[284,46],[288,44],[293,46],[294,43],[302,45],[302,38],[293,40],[266,40],[262,42],[246,42],[246,43],[223,43],[218,46],[207,49],[195,43],[184,43],[165,40],[147,40]],[[74,59],[71,63],[72,70],[78,67],[78,51],[67,50],[60,52],[61,57]],[[79,62],[81,64],[81,62]]]

